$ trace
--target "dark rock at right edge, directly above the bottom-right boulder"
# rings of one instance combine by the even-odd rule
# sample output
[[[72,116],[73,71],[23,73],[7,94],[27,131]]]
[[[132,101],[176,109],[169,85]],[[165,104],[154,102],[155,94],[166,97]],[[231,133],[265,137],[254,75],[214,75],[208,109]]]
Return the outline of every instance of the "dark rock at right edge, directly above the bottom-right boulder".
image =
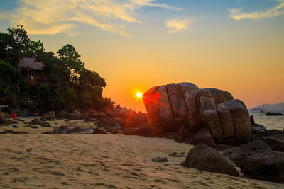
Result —
[[[273,151],[284,152],[284,133],[268,137],[258,137],[257,140],[266,142]]]

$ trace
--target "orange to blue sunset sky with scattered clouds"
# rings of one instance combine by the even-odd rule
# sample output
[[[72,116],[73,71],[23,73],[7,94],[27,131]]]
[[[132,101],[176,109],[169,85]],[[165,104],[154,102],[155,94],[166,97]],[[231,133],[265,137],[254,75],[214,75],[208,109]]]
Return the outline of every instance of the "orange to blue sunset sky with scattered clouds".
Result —
[[[248,108],[284,101],[284,0],[0,0],[0,30],[21,24],[46,51],[71,44],[106,79],[104,96],[191,82]]]

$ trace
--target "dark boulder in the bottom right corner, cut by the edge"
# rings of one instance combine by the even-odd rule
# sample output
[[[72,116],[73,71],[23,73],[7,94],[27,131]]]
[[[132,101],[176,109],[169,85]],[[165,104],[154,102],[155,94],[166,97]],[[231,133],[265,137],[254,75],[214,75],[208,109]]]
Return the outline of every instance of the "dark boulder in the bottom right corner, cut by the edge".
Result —
[[[241,162],[241,171],[251,178],[284,183],[284,153],[253,154]]]

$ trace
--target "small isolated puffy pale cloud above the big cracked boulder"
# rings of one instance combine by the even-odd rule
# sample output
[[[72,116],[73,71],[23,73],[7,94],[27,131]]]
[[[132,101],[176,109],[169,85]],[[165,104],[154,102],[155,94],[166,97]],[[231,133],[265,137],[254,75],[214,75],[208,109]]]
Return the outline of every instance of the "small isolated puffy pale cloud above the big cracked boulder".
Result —
[[[188,19],[177,20],[177,19],[170,19],[165,22],[165,27],[170,28],[171,30],[168,33],[177,33],[180,30],[190,30],[189,25],[192,21]]]

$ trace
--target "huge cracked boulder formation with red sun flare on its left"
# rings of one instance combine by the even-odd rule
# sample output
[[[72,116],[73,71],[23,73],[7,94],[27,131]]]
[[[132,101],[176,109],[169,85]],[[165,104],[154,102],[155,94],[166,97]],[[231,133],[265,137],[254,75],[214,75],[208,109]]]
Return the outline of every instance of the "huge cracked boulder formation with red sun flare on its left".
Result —
[[[177,142],[238,146],[251,137],[246,105],[229,92],[199,89],[191,83],[167,84],[151,88],[143,100],[155,134],[173,137],[177,133]]]

